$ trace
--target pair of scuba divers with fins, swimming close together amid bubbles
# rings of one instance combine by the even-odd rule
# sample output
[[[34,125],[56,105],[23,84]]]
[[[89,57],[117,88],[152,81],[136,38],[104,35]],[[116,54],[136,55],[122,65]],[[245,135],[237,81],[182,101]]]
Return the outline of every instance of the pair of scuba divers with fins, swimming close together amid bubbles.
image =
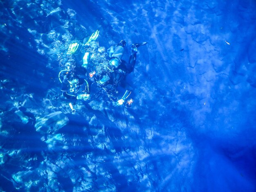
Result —
[[[70,44],[66,53],[69,59],[65,62],[65,69],[60,71],[58,75],[63,96],[76,100],[89,100],[92,85],[96,84],[104,89],[108,95],[110,95],[109,92],[116,93],[117,96],[111,97],[114,105],[124,104],[126,107],[131,107],[134,102],[132,98],[129,98],[132,87],[125,79],[134,70],[137,48],[147,42],[132,44],[129,62],[127,63],[122,60],[124,46],[126,45],[125,40],[112,45],[108,49],[108,57],[100,58],[101,52],[106,52],[105,48],[98,47],[94,51],[91,48],[91,44],[95,43],[98,36],[99,31],[97,30],[92,33],[86,43],[76,41]],[[118,95],[120,92],[117,91],[118,87],[123,88],[123,94]],[[75,112],[72,103],[69,105],[72,112]]]

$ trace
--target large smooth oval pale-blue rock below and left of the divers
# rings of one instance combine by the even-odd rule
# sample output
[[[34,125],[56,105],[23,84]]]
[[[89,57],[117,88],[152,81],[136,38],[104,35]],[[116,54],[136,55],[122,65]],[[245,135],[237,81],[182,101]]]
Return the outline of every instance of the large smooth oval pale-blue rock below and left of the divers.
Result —
[[[54,134],[69,122],[63,112],[54,112],[36,120],[36,131],[41,134]]]

